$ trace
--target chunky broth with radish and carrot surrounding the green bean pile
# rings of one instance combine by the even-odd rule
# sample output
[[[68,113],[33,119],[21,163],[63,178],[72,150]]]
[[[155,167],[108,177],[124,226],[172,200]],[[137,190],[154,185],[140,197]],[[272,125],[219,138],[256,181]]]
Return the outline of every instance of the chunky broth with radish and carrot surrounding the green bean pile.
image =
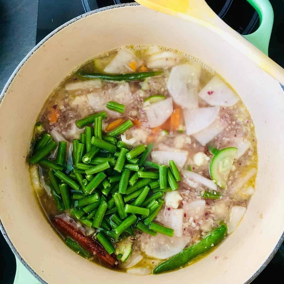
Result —
[[[145,71],[161,74],[138,81],[88,80],[79,75]],[[124,113],[106,108],[109,101],[125,105]],[[181,181],[177,190],[163,193],[164,204],[154,219],[174,229],[173,237],[160,233],[153,236],[133,227],[135,238],[124,233],[126,238],[121,241],[132,245],[124,263],[117,260],[116,265],[110,266],[97,255],[91,255],[90,260],[122,272],[146,275],[184,248],[200,243],[222,222],[228,226],[225,237],[233,233],[254,193],[256,137],[247,108],[212,68],[189,55],[158,46],[122,47],[83,64],[51,94],[38,118],[55,142],[66,141],[67,172],[72,170],[72,141],[84,133],[84,128],[76,126],[76,120],[101,111],[107,114],[102,121],[103,135],[112,122],[130,119],[133,127],[119,135],[118,141],[126,143],[129,150],[153,143],[147,160],[167,166],[174,160]],[[41,136],[35,132],[36,145]],[[55,156],[56,150],[49,158]],[[70,210],[59,212],[55,205],[49,169],[38,168],[39,181],[35,178],[37,167],[31,167],[32,184],[48,220],[64,212],[72,217]],[[145,166],[144,171],[155,169]],[[210,198],[205,198],[206,194]],[[107,195],[106,201],[110,198],[111,194]],[[91,229],[76,218],[73,222],[95,239],[96,228]],[[68,237],[66,233],[60,235]],[[117,244],[114,247],[118,250]]]

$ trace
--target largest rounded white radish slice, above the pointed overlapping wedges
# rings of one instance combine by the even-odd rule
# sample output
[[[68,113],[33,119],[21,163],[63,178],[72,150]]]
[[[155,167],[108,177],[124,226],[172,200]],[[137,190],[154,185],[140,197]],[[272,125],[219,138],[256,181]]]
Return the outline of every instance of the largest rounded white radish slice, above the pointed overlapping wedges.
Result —
[[[167,87],[175,103],[188,109],[198,108],[200,74],[199,65],[181,64],[172,68]]]

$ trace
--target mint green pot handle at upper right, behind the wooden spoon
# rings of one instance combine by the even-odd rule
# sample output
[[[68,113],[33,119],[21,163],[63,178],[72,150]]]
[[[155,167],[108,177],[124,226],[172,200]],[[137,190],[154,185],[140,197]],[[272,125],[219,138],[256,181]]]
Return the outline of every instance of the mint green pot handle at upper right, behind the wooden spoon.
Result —
[[[269,0],[247,0],[258,12],[260,25],[258,29],[249,35],[244,35],[255,47],[268,55],[268,45],[273,26],[274,14]]]

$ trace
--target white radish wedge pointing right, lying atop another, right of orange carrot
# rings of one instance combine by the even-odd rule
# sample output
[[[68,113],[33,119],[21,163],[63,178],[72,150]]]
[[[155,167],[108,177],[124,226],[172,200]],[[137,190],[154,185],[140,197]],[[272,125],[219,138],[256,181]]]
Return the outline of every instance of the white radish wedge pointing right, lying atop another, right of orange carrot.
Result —
[[[186,134],[191,135],[208,127],[218,116],[220,106],[183,110]]]

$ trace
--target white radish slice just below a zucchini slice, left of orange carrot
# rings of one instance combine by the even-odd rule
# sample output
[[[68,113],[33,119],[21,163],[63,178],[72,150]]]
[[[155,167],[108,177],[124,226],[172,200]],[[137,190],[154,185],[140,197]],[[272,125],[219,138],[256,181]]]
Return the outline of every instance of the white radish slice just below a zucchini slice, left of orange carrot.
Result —
[[[145,108],[148,123],[151,128],[158,127],[166,122],[173,111],[174,109],[172,98],[165,99]]]

